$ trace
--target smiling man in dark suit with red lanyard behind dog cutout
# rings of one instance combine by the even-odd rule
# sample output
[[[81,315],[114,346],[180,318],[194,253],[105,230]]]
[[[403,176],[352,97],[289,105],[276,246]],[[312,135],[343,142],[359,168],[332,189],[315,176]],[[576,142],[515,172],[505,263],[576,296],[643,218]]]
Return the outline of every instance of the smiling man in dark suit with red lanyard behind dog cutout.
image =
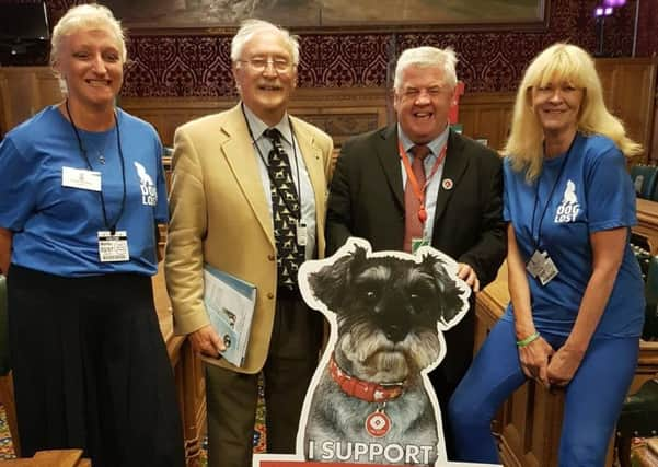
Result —
[[[494,151],[449,128],[455,63],[450,48],[418,47],[401,55],[394,80],[397,124],[357,136],[342,148],[327,203],[327,254],[349,236],[368,240],[373,250],[411,252],[430,244],[459,262],[458,275],[477,292],[494,280],[506,254],[501,162]],[[425,183],[423,175],[415,176],[414,153]],[[416,205],[408,203],[409,197],[417,198]],[[412,212],[405,212],[409,206]],[[409,223],[416,219],[420,223],[414,233]],[[430,373],[443,409],[471,363],[473,304],[474,299],[464,319],[445,332],[446,359]]]

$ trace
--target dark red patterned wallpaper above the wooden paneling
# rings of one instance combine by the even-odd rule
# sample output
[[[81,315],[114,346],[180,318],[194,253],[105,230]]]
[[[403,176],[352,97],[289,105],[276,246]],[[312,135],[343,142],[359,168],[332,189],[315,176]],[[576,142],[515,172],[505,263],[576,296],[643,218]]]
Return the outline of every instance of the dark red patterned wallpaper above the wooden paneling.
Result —
[[[56,21],[80,1],[47,0]],[[512,91],[528,61],[557,40],[596,49],[597,0],[551,0],[545,32],[464,32],[399,34],[304,34],[301,36],[299,85],[302,87],[386,86],[388,63],[396,51],[418,45],[451,45],[460,62],[458,74],[466,92]],[[637,55],[657,47],[656,0],[644,1],[644,33]],[[647,13],[647,14],[645,14]],[[650,13],[650,14],[648,14]],[[651,17],[653,15],[653,17]],[[605,22],[605,52],[631,56],[635,1]],[[226,96],[233,94],[230,73],[230,37],[217,35],[132,36],[131,63],[123,89],[125,96]]]

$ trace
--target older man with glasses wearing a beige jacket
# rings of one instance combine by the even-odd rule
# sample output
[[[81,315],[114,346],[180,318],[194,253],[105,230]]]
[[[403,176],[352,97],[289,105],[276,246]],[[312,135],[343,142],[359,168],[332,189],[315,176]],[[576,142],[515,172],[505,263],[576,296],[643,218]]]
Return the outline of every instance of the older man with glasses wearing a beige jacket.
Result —
[[[241,102],[176,130],[165,256],[175,331],[206,363],[209,466],[251,466],[257,380],[265,380],[267,451],[293,453],[318,364],[322,317],[297,287],[297,268],[324,255],[333,143],[287,113],[297,83],[296,37],[243,23],[231,44]],[[204,264],[256,285],[245,362],[223,343],[204,306]]]

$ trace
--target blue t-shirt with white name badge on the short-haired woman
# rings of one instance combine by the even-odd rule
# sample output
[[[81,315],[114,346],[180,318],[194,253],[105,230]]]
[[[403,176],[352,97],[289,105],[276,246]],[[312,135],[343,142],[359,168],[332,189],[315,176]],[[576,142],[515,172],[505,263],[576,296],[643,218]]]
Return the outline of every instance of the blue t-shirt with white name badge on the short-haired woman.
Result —
[[[129,261],[100,261],[97,233],[108,230],[101,196],[62,186],[62,167],[88,170],[88,165],[71,124],[50,106],[0,142],[0,226],[13,232],[13,264],[65,277],[157,272],[155,223],[168,221],[162,144],[151,125],[120,109],[117,122],[126,201],[116,230],[127,232]],[[101,173],[112,224],[124,187],[116,128],[78,131],[92,170]]]

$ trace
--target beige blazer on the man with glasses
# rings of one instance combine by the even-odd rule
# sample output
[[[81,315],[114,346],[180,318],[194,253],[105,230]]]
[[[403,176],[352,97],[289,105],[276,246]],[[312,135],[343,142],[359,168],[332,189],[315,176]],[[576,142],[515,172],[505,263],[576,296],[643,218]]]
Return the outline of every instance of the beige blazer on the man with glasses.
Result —
[[[315,191],[318,254],[324,256],[324,221],[333,142],[291,117]],[[180,127],[174,136],[170,224],[164,260],[174,331],[209,324],[203,302],[204,262],[256,285],[256,312],[245,363],[209,363],[242,373],[263,367],[269,348],[277,292],[276,247],[258,163],[240,105]]]

